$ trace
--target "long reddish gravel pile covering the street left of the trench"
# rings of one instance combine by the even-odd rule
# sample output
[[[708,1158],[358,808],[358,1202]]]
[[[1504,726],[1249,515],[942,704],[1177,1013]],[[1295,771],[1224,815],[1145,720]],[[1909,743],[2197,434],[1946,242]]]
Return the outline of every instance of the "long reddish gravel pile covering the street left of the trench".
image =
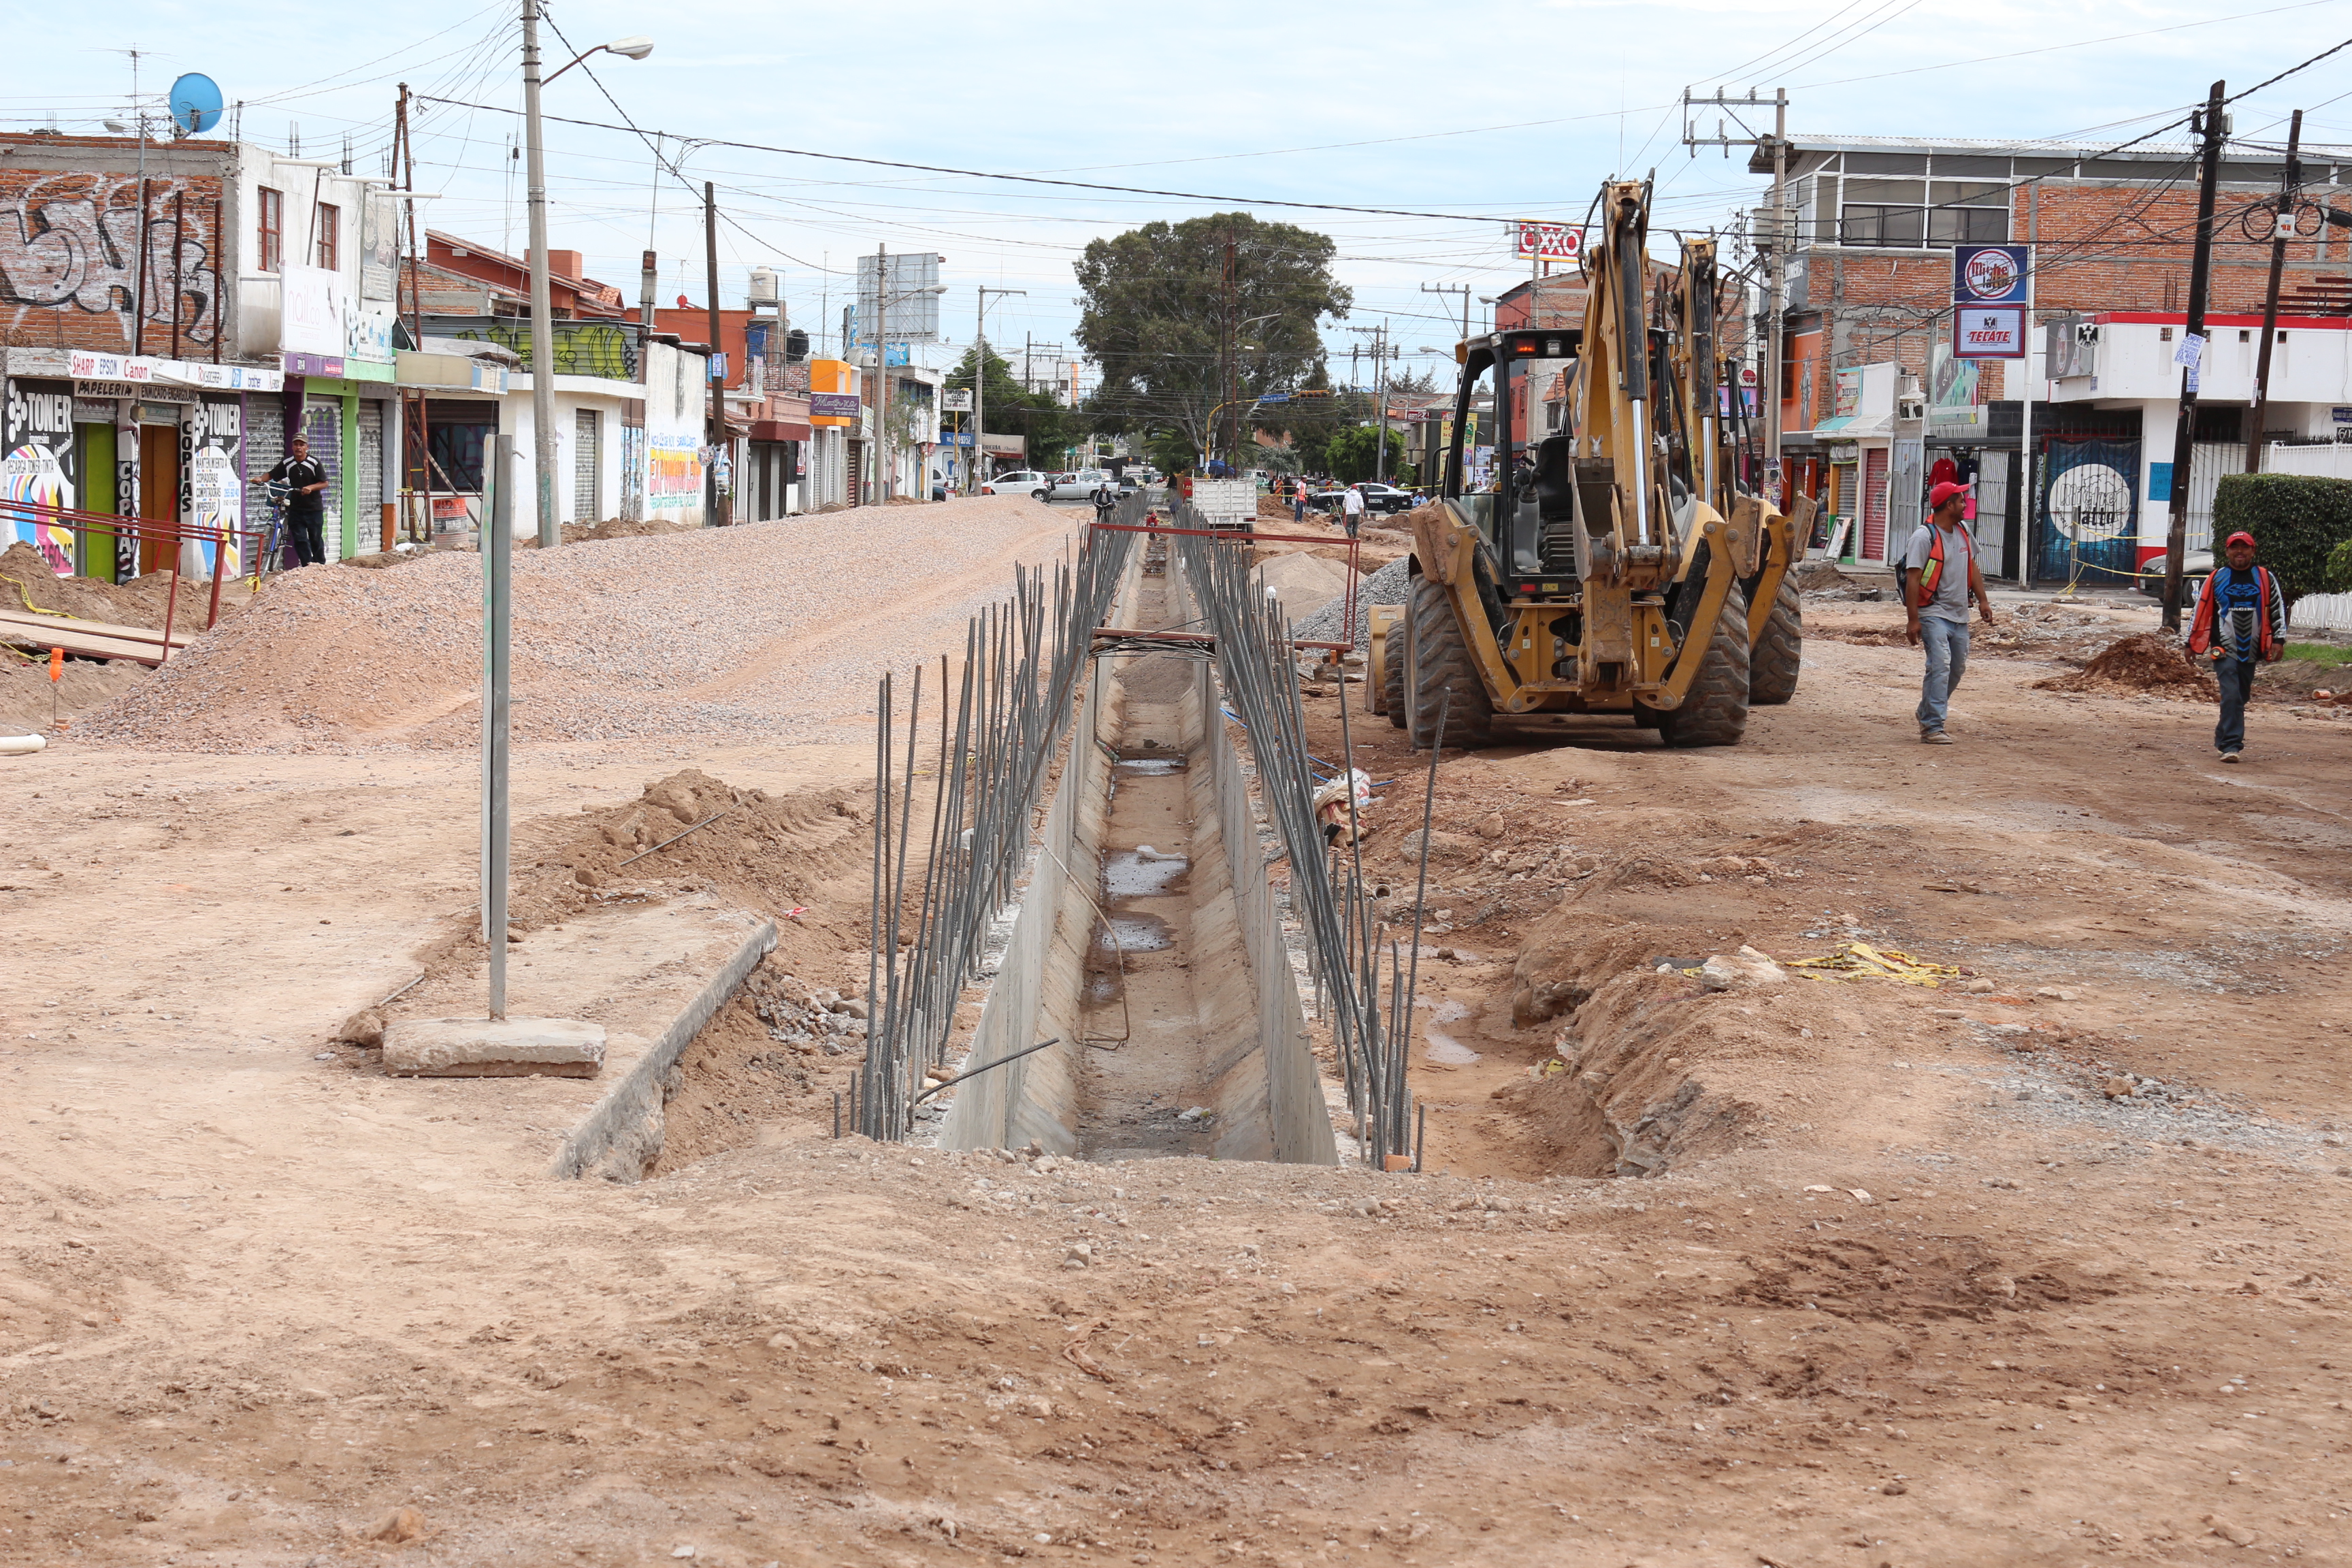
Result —
[[[515,741],[863,733],[873,684],[962,644],[1014,557],[1070,520],[1028,496],[858,508],[515,555]],[[957,576],[969,581],[957,583]],[[306,569],[75,733],[198,752],[480,741],[482,562]]]

